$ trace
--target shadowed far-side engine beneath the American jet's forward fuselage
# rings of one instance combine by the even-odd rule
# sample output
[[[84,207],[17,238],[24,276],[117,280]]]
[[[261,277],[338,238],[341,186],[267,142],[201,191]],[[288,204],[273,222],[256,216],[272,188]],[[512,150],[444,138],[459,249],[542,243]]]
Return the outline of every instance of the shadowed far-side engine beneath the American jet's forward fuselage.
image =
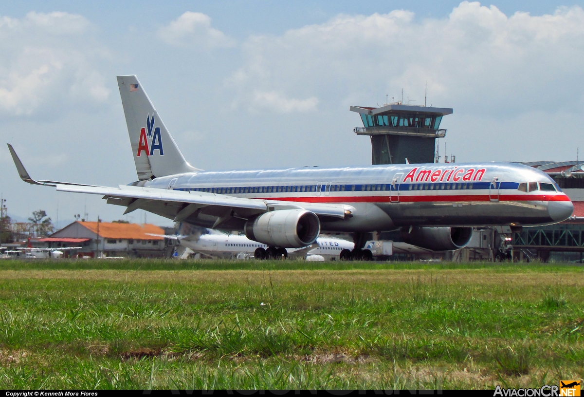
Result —
[[[411,232],[409,227],[402,229],[402,238],[406,243],[433,251],[464,248],[471,237],[472,227],[412,227]]]

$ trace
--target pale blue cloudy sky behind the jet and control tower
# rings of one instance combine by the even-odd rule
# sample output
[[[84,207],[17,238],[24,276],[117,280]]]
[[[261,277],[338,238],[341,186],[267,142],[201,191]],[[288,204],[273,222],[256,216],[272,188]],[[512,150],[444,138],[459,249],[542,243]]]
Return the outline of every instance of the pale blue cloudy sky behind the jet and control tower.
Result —
[[[0,193],[23,220],[172,221],[20,181],[137,179],[116,75],[205,170],[371,163],[349,106],[453,108],[440,154],[576,160],[584,1],[0,1]],[[86,216],[84,214],[87,214]]]

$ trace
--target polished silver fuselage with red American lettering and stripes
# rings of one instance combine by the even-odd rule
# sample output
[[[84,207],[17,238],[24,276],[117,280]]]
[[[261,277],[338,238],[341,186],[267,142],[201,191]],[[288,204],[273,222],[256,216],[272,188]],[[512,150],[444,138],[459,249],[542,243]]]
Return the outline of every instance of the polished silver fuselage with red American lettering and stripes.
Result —
[[[520,191],[519,184],[526,182],[553,184],[555,190]],[[351,216],[344,220],[321,219],[321,230],[330,232],[400,226],[545,225],[569,218],[573,210],[569,198],[547,174],[513,163],[196,171],[154,178],[142,185],[352,206]],[[175,216],[172,210],[158,213]],[[215,219],[198,213],[186,222],[211,227]]]

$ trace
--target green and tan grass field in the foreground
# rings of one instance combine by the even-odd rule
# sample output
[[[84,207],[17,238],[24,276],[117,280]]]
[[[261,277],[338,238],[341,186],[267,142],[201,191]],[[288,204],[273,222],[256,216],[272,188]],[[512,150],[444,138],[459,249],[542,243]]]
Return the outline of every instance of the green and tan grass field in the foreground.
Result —
[[[584,377],[584,268],[1,261],[0,388],[491,388]]]

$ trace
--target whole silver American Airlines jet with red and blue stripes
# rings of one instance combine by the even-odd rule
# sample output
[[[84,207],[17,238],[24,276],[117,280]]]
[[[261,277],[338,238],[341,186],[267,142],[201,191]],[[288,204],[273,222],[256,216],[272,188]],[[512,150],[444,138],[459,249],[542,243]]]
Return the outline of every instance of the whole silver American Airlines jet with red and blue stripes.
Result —
[[[561,222],[573,205],[554,180],[512,163],[203,171],[192,167],[135,75],[117,77],[138,180],[117,188],[35,181],[8,145],[20,178],[57,191],[102,195],[107,203],[220,230],[267,246],[309,246],[321,232],[353,233],[352,258],[368,232],[401,229],[431,250],[465,247],[474,226]]]

